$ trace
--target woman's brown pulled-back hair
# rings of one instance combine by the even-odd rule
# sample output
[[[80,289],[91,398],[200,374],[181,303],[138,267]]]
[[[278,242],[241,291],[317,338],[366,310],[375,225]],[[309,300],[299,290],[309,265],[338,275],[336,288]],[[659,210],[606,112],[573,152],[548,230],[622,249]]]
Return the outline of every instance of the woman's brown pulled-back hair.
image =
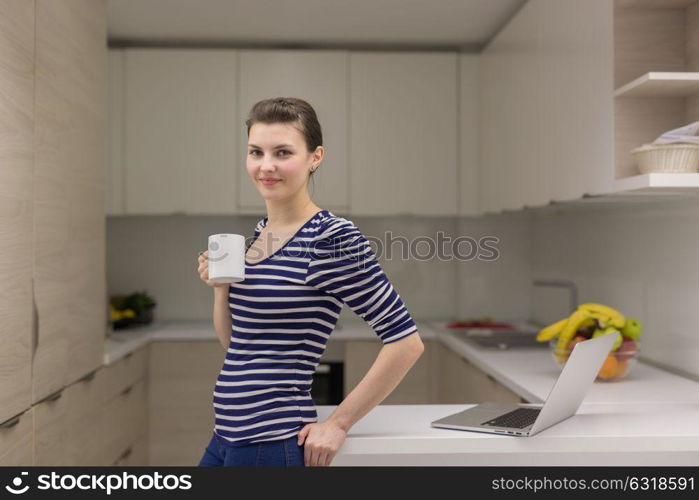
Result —
[[[250,109],[245,125],[250,128],[255,123],[292,123],[296,125],[306,140],[309,152],[323,145],[323,133],[313,107],[303,99],[296,97],[273,97],[255,103]]]

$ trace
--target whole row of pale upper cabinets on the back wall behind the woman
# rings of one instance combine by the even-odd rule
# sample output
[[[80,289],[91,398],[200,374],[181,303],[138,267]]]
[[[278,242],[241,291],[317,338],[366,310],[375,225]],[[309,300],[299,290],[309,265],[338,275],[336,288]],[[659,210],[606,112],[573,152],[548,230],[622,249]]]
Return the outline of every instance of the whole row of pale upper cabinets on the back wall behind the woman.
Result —
[[[478,56],[112,50],[107,214],[264,213],[245,169],[257,101],[300,97],[323,128],[309,186],[357,215],[475,215]]]

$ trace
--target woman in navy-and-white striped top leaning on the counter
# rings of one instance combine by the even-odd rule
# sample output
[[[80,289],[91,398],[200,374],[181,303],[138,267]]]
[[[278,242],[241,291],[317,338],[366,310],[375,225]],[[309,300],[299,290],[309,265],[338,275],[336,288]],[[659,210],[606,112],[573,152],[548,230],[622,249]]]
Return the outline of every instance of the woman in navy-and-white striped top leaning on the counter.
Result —
[[[393,391],[424,346],[366,238],[308,194],[324,155],[313,108],[301,99],[267,99],[253,106],[246,125],[246,168],[267,217],[246,251],[244,281],[210,282],[208,251],[199,256],[201,279],[227,287],[215,290],[216,300],[226,301],[232,318],[214,389],[214,435],[199,465],[327,466],[350,427]],[[318,422],[312,377],[343,304],[384,347]]]

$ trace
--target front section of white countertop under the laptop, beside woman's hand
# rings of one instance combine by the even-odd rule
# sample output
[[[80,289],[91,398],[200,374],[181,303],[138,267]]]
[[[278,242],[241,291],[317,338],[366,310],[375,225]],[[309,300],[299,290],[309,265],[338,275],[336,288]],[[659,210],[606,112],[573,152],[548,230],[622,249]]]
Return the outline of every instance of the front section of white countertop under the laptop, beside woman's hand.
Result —
[[[332,465],[698,465],[699,403],[583,403],[531,437],[430,427],[474,405],[379,405]],[[324,421],[336,406],[316,406]]]

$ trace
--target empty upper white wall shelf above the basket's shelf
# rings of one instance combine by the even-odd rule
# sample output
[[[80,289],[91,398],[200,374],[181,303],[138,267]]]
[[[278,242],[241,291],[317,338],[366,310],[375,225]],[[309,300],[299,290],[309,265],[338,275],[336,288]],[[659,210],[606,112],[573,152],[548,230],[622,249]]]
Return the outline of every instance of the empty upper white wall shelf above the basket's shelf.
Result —
[[[699,95],[699,72],[650,72],[618,88],[615,97],[690,97]]]

